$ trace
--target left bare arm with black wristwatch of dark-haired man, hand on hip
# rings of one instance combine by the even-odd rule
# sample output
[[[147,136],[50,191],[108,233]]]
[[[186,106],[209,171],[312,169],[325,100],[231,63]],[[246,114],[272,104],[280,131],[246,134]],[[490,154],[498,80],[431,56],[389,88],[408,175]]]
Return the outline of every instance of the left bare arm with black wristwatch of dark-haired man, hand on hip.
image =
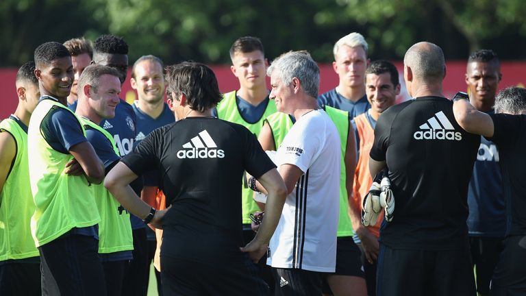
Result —
[[[118,202],[126,208],[129,212],[136,215],[140,219],[145,219],[151,210],[145,201],[142,201],[134,192],[129,184],[137,179],[137,175],[127,167],[123,162],[118,162],[115,167],[106,175],[104,186],[110,193],[118,200]],[[155,216],[151,224],[160,228],[160,222],[166,210],[155,212]]]

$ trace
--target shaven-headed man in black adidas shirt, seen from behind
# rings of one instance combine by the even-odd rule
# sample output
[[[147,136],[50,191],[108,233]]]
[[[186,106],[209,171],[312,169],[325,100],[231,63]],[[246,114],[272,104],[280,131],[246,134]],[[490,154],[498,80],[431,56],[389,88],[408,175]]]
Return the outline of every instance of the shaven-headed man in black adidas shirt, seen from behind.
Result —
[[[390,179],[396,207],[380,229],[377,295],[475,295],[467,191],[479,136],[455,121],[442,95],[442,49],[418,42],[403,77],[414,98],[390,107],[375,127],[369,170]]]

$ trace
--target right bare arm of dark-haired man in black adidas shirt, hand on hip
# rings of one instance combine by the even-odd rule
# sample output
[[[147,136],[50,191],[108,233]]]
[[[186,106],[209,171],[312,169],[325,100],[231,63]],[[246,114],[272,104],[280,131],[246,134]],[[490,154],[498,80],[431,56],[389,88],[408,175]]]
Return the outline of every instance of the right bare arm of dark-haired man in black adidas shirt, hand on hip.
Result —
[[[281,179],[276,169],[271,169],[264,173],[258,178],[258,181],[268,193],[266,197],[265,218],[261,223],[258,233],[255,234],[255,238],[245,247],[240,248],[241,251],[249,252],[249,256],[254,262],[258,262],[265,254],[268,242],[276,230],[277,223],[279,223],[279,217],[281,217],[281,211],[283,210],[283,205],[287,197],[284,180]]]

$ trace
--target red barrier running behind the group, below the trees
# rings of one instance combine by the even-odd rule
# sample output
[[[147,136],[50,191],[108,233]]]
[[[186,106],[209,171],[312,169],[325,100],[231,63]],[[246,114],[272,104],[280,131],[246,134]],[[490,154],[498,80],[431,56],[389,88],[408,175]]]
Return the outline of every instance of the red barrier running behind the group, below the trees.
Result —
[[[403,83],[403,66],[401,62],[395,62],[400,73],[400,82],[402,84],[402,91],[397,98],[398,102],[410,99],[405,85]],[[526,83],[526,73],[524,71],[526,62],[503,62],[501,65],[501,71],[503,73],[501,84],[499,89],[508,86],[524,86]],[[216,77],[219,83],[219,90],[226,93],[230,90],[239,88],[238,79],[231,73],[230,66],[212,66],[212,70],[216,73]],[[16,89],[14,81],[16,77],[17,69],[0,69],[0,119],[9,116],[16,109],[18,99],[16,99]],[[332,70],[330,64],[320,64],[320,93],[325,93],[327,90],[331,90],[338,84],[338,75]],[[454,61],[447,62],[447,75],[444,79],[444,95],[452,97],[458,91],[466,91],[466,82],[464,76],[466,73],[466,62]],[[123,85],[121,97],[126,98],[126,101],[131,102],[136,99],[136,93],[129,85],[129,77],[127,76],[126,82]],[[267,79],[267,85],[268,83]]]

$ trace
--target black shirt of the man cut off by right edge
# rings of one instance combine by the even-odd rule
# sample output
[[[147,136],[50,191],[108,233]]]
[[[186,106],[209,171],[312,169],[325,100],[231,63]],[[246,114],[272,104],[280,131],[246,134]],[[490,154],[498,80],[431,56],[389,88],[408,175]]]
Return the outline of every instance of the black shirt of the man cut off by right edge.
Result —
[[[493,137],[499,147],[504,199],[506,234],[526,234],[526,115],[490,114]]]

